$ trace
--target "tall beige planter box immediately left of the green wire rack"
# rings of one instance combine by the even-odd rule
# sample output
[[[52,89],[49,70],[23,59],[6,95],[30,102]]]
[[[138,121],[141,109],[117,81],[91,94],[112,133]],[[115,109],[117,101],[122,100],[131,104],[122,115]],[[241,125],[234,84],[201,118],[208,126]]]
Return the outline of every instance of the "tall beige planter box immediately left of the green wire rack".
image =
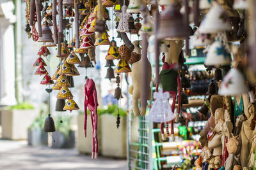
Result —
[[[116,128],[116,117],[102,115],[102,155],[105,157],[126,158],[127,136],[126,117],[121,117],[120,127]]]

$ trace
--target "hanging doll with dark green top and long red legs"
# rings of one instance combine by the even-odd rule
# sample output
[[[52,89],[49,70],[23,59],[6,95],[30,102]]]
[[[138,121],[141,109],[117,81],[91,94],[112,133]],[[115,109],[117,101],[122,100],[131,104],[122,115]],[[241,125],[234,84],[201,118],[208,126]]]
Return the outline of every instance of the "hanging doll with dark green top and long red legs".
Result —
[[[169,92],[170,96],[173,97],[172,102],[172,112],[175,110],[175,101],[177,96],[177,90],[179,89],[179,99],[178,99],[178,110],[180,111],[180,101],[181,101],[181,85],[178,70],[176,69],[177,64],[179,62],[179,56],[182,52],[182,41],[168,41],[170,48],[168,52],[165,53],[163,57],[163,69],[160,73],[161,76],[161,85],[163,87],[164,92]],[[174,132],[173,132],[173,120],[170,122],[171,124],[171,136],[174,141]],[[166,136],[170,136],[168,122],[165,123],[166,128]],[[164,123],[161,124],[161,136],[163,139],[166,139],[164,136]]]

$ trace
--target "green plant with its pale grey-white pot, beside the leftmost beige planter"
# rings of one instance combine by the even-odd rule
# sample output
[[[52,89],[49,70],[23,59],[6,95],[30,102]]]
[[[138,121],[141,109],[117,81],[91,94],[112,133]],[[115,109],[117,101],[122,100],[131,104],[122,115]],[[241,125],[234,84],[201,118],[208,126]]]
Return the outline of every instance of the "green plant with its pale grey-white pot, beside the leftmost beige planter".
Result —
[[[48,145],[48,136],[44,132],[44,114],[40,114],[35,118],[34,122],[28,129],[28,145],[31,146],[42,146]]]

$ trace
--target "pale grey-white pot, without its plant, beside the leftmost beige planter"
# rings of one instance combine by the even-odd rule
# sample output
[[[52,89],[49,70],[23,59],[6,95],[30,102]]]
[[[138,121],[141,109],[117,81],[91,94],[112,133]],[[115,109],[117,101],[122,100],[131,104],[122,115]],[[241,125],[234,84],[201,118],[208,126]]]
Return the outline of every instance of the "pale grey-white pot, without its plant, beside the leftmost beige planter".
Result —
[[[48,135],[43,129],[28,129],[28,145],[43,146],[48,145]]]

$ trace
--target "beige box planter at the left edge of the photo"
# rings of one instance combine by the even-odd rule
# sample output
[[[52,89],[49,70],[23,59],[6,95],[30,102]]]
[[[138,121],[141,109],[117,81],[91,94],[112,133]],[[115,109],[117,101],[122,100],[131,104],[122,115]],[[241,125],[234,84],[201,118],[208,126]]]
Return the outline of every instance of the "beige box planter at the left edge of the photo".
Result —
[[[2,136],[5,139],[28,139],[28,128],[39,110],[1,111]]]

